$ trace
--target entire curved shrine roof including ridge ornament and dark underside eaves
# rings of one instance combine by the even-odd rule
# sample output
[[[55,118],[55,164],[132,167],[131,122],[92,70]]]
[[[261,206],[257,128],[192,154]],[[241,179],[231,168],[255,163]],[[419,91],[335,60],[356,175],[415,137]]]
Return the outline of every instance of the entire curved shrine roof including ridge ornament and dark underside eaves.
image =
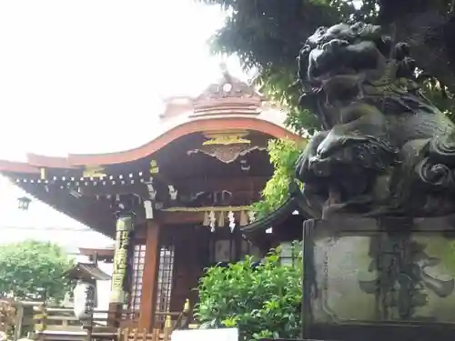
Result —
[[[146,145],[94,155],[29,154],[24,163],[0,160],[0,173],[106,236],[114,233],[116,205],[125,201],[138,207],[145,197],[159,203],[153,211],[164,224],[183,224],[183,216],[193,224],[203,221],[203,210],[167,211],[179,206],[210,210],[215,201],[226,210],[257,200],[272,172],[264,152],[268,139],[303,139],[285,127],[285,118],[253,86],[225,73],[195,98],[168,98]],[[236,211],[240,220],[242,211]],[[138,225],[146,219],[144,208]]]

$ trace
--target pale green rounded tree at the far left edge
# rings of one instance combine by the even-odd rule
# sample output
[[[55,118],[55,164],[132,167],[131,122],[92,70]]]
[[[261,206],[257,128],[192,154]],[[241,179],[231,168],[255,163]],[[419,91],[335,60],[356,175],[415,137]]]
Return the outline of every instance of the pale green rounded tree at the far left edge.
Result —
[[[26,240],[0,246],[0,295],[61,301],[70,287],[65,272],[73,265],[51,243]]]

